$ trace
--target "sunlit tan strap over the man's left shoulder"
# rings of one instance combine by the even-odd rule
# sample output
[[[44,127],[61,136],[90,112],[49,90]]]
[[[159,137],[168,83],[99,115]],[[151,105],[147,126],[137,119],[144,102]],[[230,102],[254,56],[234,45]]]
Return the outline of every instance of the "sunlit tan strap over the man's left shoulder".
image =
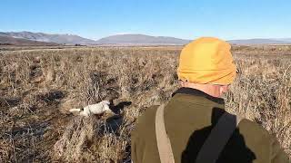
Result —
[[[161,163],[175,163],[171,141],[166,134],[164,105],[156,110],[156,142]]]

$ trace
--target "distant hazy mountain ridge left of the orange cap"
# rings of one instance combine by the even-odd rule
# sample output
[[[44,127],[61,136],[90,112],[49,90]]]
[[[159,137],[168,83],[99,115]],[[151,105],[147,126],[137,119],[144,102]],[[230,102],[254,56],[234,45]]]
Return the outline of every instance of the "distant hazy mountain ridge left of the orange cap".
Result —
[[[44,34],[31,32],[8,32],[0,34],[31,41],[62,44],[186,44],[190,42],[189,40],[175,37],[150,36],[146,34],[116,34],[97,41],[73,34]]]

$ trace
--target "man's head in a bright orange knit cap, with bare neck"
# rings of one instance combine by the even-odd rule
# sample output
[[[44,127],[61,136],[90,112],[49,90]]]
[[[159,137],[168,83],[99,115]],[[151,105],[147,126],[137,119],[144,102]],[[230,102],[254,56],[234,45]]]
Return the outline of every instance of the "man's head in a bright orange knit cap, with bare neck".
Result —
[[[230,44],[203,37],[188,43],[180,54],[178,78],[182,87],[195,88],[220,97],[236,78]]]

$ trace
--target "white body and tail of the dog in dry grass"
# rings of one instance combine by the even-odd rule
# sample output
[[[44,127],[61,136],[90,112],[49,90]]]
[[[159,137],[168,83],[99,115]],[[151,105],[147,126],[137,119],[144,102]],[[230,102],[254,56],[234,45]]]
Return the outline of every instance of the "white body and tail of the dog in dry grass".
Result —
[[[90,115],[99,115],[109,109],[110,101],[100,101],[99,103],[88,105],[82,109],[71,109],[70,112],[80,112],[81,116],[89,117]]]

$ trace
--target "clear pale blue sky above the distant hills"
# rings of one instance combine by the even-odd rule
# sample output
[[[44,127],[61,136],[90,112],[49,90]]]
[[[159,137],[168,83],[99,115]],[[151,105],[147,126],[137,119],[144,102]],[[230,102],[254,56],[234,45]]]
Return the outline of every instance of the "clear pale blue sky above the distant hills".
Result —
[[[291,38],[290,0],[1,0],[0,32]]]

